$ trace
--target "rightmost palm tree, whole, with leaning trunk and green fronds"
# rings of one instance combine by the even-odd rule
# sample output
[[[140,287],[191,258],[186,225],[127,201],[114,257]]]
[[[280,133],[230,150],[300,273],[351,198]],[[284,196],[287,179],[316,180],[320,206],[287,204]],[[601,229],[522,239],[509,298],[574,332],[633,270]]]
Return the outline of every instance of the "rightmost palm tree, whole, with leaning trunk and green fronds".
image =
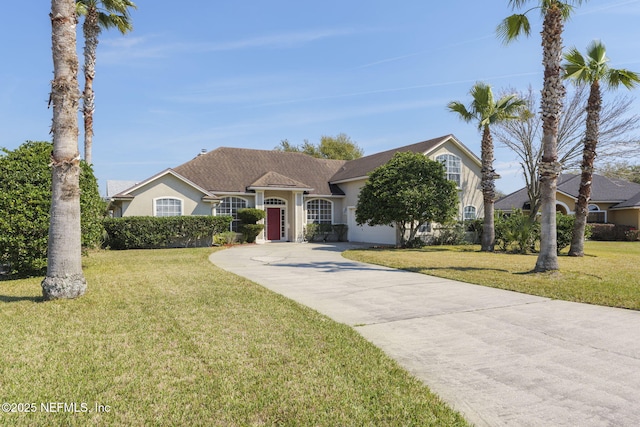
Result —
[[[596,157],[596,145],[600,137],[600,112],[602,109],[602,93],[600,82],[615,89],[620,85],[631,89],[640,82],[640,76],[625,69],[609,68],[607,50],[602,42],[593,41],[587,47],[584,57],[572,48],[564,55],[565,78],[573,80],[576,85],[589,85],[589,99],[587,101],[587,120],[584,134],[584,149],[582,151],[582,165],[580,190],[576,202],[576,217],[571,237],[570,256],[584,256],[584,230],[589,213],[591,198],[591,178],[593,176],[593,162]]]

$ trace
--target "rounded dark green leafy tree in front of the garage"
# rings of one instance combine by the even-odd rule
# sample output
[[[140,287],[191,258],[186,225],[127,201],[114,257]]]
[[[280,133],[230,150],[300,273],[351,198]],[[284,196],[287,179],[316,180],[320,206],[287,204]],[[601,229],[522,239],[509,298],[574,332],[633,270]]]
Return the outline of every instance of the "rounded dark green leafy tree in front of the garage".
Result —
[[[427,222],[446,223],[458,211],[456,184],[440,162],[421,153],[396,153],[374,169],[356,205],[358,224],[395,226],[400,246],[412,241]]]

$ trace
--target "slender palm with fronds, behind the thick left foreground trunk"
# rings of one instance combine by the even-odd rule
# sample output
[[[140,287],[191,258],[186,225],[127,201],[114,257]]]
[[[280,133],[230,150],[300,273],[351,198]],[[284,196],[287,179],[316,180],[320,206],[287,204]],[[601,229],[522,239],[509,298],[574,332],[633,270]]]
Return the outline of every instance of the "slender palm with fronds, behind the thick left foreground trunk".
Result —
[[[96,74],[96,50],[98,36],[103,28],[117,28],[122,34],[133,29],[129,8],[136,5],[129,0],[77,0],[76,12],[84,16],[84,91],[82,113],[84,115],[84,159],[91,164],[93,145],[93,79]]]

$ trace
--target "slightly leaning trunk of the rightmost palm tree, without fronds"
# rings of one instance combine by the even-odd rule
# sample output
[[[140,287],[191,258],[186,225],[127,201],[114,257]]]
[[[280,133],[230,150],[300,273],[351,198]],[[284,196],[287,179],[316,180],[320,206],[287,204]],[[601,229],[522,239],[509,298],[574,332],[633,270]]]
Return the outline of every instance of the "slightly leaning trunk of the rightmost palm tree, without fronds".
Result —
[[[587,126],[582,151],[582,174],[580,176],[580,190],[576,202],[576,216],[573,223],[571,247],[569,256],[584,256],[584,232],[589,215],[589,200],[591,199],[591,179],[593,177],[593,163],[596,158],[596,145],[600,127],[600,107],[602,97],[598,80],[591,84],[589,101],[587,102]]]

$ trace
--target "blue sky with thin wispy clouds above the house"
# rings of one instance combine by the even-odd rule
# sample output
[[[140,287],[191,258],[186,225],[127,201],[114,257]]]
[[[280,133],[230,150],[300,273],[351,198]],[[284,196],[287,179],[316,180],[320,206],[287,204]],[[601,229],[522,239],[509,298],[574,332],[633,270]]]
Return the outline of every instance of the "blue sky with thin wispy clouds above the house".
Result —
[[[50,140],[51,3],[5,3],[0,146],[13,149]],[[273,149],[339,133],[365,154],[452,133],[479,155],[476,127],[447,103],[468,103],[476,81],[496,91],[542,84],[539,14],[529,39],[504,46],[495,36],[512,13],[507,0],[136,3],[134,31],[104,32],[98,47],[101,192],[106,180],[140,181],[201,149]],[[600,39],[612,66],[640,71],[639,23],[640,0],[587,1],[566,25],[565,46],[584,51]],[[498,149],[495,164],[500,190],[523,185],[511,152]]]

